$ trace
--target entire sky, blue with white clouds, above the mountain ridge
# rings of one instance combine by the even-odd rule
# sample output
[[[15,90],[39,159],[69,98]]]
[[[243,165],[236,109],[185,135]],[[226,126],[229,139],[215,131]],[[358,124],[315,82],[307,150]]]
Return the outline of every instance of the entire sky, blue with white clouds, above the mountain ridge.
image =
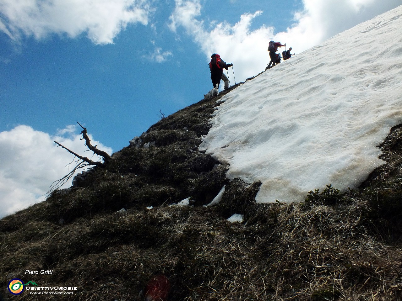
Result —
[[[0,183],[7,183],[0,184],[0,205],[13,195],[16,203],[43,199],[66,174],[73,158],[53,140],[83,151],[76,122],[115,152],[160,112],[168,116],[201,100],[212,88],[211,53],[234,64],[229,77],[234,84],[234,72],[238,83],[265,69],[271,39],[293,47],[297,59],[400,4],[0,0]]]

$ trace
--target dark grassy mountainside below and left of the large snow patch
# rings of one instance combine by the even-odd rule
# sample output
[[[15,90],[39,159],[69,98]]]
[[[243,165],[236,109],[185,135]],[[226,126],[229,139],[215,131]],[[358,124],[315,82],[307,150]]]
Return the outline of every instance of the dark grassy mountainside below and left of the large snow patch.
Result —
[[[11,296],[8,281],[20,278],[79,287],[57,300],[143,300],[163,273],[168,300],[402,300],[400,128],[361,189],[257,205],[259,183],[228,183],[227,167],[197,149],[214,108],[201,101],[162,119],[78,187],[0,220],[4,295],[51,300]],[[201,206],[223,185],[219,205]],[[194,206],[168,206],[189,196]],[[227,222],[234,213],[245,223]]]

